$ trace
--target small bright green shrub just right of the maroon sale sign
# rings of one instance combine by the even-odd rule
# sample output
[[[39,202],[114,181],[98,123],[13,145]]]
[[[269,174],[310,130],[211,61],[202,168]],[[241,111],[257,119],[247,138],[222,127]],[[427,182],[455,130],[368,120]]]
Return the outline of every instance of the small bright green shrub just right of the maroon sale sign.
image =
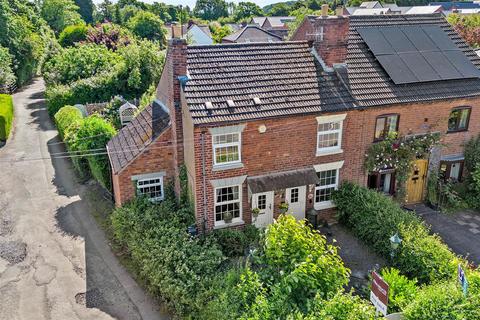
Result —
[[[400,312],[417,294],[417,280],[410,280],[394,268],[382,269],[383,280],[388,283],[388,312]]]

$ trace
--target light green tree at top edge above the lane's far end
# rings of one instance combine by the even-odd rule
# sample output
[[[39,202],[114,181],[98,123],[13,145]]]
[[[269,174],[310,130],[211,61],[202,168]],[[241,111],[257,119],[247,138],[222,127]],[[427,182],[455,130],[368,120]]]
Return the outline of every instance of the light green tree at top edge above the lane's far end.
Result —
[[[41,15],[53,31],[59,34],[65,27],[83,22],[78,9],[73,0],[44,0]]]

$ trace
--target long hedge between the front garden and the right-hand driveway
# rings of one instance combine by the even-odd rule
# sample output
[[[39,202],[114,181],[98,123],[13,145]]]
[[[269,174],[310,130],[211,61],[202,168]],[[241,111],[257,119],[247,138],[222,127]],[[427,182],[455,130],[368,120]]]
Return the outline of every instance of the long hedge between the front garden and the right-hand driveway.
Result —
[[[340,222],[380,255],[390,258],[390,237],[403,239],[393,266],[419,283],[450,279],[461,261],[414,213],[376,191],[346,182],[333,195]]]

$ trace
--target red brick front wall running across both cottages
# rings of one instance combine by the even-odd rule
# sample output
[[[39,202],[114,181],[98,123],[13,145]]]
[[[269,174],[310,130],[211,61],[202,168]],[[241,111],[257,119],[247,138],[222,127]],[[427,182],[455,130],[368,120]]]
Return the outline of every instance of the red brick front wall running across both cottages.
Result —
[[[470,126],[467,132],[446,134],[450,111],[458,106],[472,106]],[[440,101],[381,108],[370,108],[364,111],[347,112],[343,124],[342,149],[343,154],[329,156],[315,155],[317,142],[316,115],[294,116],[271,120],[251,121],[246,123],[242,132],[242,163],[243,168],[224,171],[212,171],[212,138],[206,127],[194,128],[194,159],[195,159],[195,193],[197,222],[203,221],[203,180],[201,136],[205,139],[206,163],[206,194],[207,194],[207,228],[214,226],[214,188],[209,182],[215,179],[238,177],[242,175],[256,176],[272,172],[288,171],[311,167],[316,164],[344,161],[340,169],[339,181],[349,180],[366,185],[367,175],[363,169],[365,153],[374,139],[375,122],[379,115],[400,114],[399,131],[403,134],[418,134],[439,131],[443,134],[441,154],[462,153],[463,143],[473,135],[480,133],[480,98],[460,99],[455,101]],[[322,114],[327,115],[327,114]],[[258,132],[258,127],[265,125],[267,131]],[[243,185],[242,203],[243,220],[251,223],[251,204],[248,199],[247,184]],[[307,187],[307,208],[313,206],[313,198],[309,193],[314,190]],[[276,193],[275,208],[284,201],[284,194]],[[333,211],[322,213],[320,220],[331,220]],[[278,210],[274,216],[278,215]]]

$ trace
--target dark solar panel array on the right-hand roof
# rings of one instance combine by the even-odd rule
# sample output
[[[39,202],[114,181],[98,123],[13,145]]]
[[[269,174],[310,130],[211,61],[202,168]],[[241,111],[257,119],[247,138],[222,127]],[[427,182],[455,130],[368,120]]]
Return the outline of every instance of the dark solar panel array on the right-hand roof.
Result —
[[[480,78],[473,65],[439,26],[358,28],[395,84]]]

